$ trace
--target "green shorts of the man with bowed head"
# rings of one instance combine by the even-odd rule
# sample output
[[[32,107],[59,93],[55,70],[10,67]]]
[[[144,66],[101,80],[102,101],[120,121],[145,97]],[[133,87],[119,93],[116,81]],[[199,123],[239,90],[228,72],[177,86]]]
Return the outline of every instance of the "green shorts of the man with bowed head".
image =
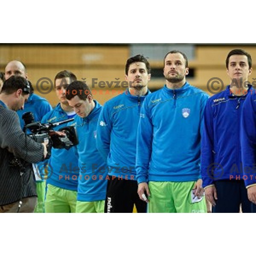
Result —
[[[76,213],[104,213],[105,200],[95,202],[81,202],[76,203]]]

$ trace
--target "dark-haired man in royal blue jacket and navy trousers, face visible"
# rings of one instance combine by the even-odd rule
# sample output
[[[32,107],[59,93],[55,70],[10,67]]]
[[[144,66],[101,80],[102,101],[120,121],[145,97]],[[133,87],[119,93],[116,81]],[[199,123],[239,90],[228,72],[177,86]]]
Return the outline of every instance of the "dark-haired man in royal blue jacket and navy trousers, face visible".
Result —
[[[227,89],[207,102],[202,137],[202,178],[213,212],[251,212],[244,186],[240,126],[244,100],[251,91],[246,86],[251,74],[250,54],[241,49],[227,56]],[[241,131],[241,134],[244,132]]]

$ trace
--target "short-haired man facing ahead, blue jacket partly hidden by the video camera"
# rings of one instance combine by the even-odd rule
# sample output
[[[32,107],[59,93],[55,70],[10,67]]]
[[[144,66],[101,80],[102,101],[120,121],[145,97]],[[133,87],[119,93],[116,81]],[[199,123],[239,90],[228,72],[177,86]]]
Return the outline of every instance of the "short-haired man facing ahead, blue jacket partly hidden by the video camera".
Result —
[[[47,113],[42,123],[54,123],[73,118],[76,113],[67,102],[65,89],[76,80],[76,76],[67,70],[55,76],[55,91],[60,103],[54,110]],[[54,130],[67,127],[69,124],[59,125]],[[69,150],[52,148],[52,155],[48,162],[47,194],[45,212],[73,213],[76,212],[76,197],[79,167],[73,148]]]

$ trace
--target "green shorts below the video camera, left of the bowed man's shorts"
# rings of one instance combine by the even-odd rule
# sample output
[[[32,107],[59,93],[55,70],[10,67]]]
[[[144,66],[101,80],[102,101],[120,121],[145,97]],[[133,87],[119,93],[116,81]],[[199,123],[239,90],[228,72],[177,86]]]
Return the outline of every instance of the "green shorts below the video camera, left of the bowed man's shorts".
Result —
[[[75,213],[77,192],[47,185],[45,212],[47,213]]]

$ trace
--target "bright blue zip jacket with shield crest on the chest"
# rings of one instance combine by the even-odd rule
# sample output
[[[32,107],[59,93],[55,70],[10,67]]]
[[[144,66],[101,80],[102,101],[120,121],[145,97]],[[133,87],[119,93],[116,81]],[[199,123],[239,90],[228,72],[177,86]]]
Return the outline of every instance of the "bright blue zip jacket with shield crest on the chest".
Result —
[[[137,136],[138,183],[200,178],[201,133],[209,96],[189,83],[163,89],[143,104]]]

